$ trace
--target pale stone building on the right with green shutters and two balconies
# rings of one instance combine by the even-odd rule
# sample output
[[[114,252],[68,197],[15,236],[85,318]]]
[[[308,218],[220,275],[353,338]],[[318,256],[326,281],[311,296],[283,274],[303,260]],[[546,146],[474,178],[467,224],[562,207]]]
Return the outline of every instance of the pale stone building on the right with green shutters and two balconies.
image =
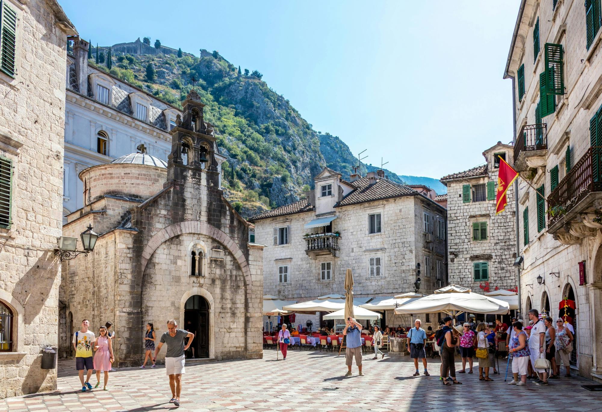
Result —
[[[600,1],[592,4],[600,10]],[[539,51],[533,47],[537,31]],[[595,172],[587,166],[590,122],[594,119],[596,125],[595,116],[602,106],[602,57],[600,31],[595,27],[592,31],[588,45],[583,2],[565,0],[553,7],[552,2],[523,1],[504,76],[514,83],[515,130],[517,139],[524,139],[515,140],[515,164],[523,178],[518,184],[517,213],[518,253],[524,258],[521,305],[523,311],[536,308],[556,317],[563,314],[558,310],[561,299],[574,300],[574,367],[580,375],[602,381],[602,326],[597,322],[602,316],[602,232],[594,221],[600,214],[600,192],[589,186]],[[559,95],[548,95],[540,87],[540,74],[546,70],[546,43],[563,49],[564,87]],[[524,84],[521,90],[519,72]],[[543,95],[542,90],[546,92]],[[536,107],[542,99],[552,100],[553,113],[544,114],[539,122]],[[539,130],[540,145],[529,140],[529,130]],[[547,202],[538,202],[535,190],[525,181],[543,186]],[[576,188],[576,182],[585,183]]]

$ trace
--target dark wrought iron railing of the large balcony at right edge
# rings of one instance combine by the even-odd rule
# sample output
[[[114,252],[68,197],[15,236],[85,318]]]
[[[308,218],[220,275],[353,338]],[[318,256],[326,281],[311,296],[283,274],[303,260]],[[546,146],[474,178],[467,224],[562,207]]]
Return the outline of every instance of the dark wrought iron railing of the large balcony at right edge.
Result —
[[[548,196],[548,222],[556,223],[589,193],[602,191],[602,146],[592,146]]]

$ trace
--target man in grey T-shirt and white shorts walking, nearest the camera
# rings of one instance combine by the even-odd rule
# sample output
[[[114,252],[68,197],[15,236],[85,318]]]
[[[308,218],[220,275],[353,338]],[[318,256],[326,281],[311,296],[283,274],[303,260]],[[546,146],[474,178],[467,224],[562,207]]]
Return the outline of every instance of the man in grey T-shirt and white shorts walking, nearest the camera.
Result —
[[[184,346],[184,339],[188,338],[188,343]],[[167,354],[165,355],[165,371],[169,375],[169,387],[172,390],[172,399],[170,404],[180,405],[180,392],[182,389],[182,375],[184,371],[185,355],[184,352],[190,347],[194,339],[194,334],[178,329],[178,323],[174,319],[167,320],[167,332],[161,336],[161,341],[155,349],[155,359],[161,350],[161,346],[167,343]]]

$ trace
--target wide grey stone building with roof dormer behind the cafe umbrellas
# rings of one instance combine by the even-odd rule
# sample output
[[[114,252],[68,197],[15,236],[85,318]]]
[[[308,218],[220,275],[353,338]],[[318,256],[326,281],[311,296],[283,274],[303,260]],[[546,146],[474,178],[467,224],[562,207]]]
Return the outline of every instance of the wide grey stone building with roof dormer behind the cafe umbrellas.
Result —
[[[355,298],[393,296],[403,292],[414,292],[414,282],[421,278],[420,292],[428,293],[446,284],[445,279],[445,239],[438,236],[439,224],[445,227],[445,208],[436,204],[426,195],[422,195],[407,186],[392,183],[384,178],[373,176],[374,191],[382,193],[385,184],[399,192],[391,198],[376,199],[371,195],[370,184],[362,178],[347,182],[340,173],[324,169],[315,177],[315,190],[307,193],[307,206],[299,210],[291,205],[276,208],[265,214],[251,217],[255,224],[255,242],[267,245],[264,249],[264,294],[279,296],[287,301],[310,301],[318,296],[344,294],[346,269],[353,270]],[[356,177],[359,177],[355,175]],[[379,186],[383,185],[382,187]],[[332,195],[324,193],[321,187],[332,185]],[[343,205],[356,192],[367,195],[367,200]],[[433,195],[434,198],[434,195]],[[298,202],[297,202],[298,203]],[[293,204],[294,205],[294,204]],[[290,211],[293,213],[289,213]],[[429,235],[427,242],[424,230],[424,214],[429,216]],[[370,234],[370,215],[380,214],[380,231]],[[305,228],[313,219],[336,217],[332,227]],[[287,228],[288,242],[275,240],[275,230]],[[328,251],[318,246],[312,251],[308,246],[311,240],[329,236],[325,230],[334,234],[338,241],[338,250]],[[323,234],[320,234],[323,233]],[[432,240],[432,241],[431,241]],[[430,275],[427,275],[426,257],[430,258]],[[371,275],[371,259],[380,258],[380,273]],[[439,262],[439,263],[438,263]],[[330,263],[330,279],[323,279],[322,265]],[[420,264],[420,269],[417,265]],[[440,281],[437,281],[439,265]],[[288,266],[288,278],[281,281],[279,268]],[[374,270],[374,268],[373,268]],[[418,270],[421,272],[418,273]],[[327,276],[326,276],[327,277]],[[282,279],[284,280],[284,279]],[[409,317],[397,316],[392,311],[386,313],[382,322],[409,324]],[[297,314],[295,325],[312,320],[315,326],[320,324],[320,315]],[[267,322],[264,317],[264,325]],[[424,318],[423,318],[424,321]],[[314,328],[315,328],[314,326]]]

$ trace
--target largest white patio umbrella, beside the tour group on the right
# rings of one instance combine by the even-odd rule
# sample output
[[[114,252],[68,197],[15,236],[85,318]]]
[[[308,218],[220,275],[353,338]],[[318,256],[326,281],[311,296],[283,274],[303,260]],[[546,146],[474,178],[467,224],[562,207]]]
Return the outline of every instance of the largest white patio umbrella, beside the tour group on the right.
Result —
[[[509,304],[458,285],[449,285],[435,290],[432,295],[418,298],[398,308],[397,314],[444,312],[455,318],[463,312],[483,314],[507,314]]]

